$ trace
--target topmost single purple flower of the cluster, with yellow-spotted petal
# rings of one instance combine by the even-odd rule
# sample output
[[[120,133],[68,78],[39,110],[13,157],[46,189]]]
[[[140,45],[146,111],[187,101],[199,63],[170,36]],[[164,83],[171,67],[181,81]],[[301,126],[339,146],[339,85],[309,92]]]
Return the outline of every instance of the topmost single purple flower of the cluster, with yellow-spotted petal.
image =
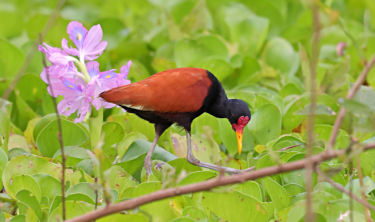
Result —
[[[70,55],[78,56],[80,60],[94,60],[101,55],[107,46],[106,41],[102,41],[103,31],[100,25],[91,27],[87,30],[78,22],[70,22],[67,25],[66,32],[69,39],[73,41],[77,49],[67,47],[67,40],[62,39],[61,46],[64,51]]]

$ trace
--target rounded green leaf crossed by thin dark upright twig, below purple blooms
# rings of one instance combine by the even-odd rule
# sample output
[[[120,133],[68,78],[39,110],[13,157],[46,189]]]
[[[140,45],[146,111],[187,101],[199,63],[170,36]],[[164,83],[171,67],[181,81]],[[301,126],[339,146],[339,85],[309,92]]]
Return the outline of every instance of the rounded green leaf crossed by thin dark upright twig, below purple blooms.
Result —
[[[88,139],[86,132],[73,122],[61,119],[61,128],[64,146],[80,145]],[[36,146],[43,156],[52,157],[60,149],[60,143],[57,138],[58,133],[57,120],[53,120],[36,137]]]

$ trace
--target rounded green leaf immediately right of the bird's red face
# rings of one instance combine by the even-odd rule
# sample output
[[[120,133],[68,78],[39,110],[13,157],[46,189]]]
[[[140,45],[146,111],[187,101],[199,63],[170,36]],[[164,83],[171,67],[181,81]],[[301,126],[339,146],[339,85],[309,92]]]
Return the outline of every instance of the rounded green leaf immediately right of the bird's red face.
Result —
[[[265,145],[280,135],[281,113],[275,105],[267,104],[261,106],[252,115],[248,125],[254,141]]]

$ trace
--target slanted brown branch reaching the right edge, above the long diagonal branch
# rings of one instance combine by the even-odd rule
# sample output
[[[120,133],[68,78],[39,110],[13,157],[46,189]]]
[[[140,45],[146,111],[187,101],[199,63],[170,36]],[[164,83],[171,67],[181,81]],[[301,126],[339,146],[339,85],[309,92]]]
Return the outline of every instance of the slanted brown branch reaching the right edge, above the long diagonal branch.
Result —
[[[360,73],[356,81],[354,82],[353,86],[347,92],[346,99],[352,99],[355,96],[355,93],[358,91],[359,87],[363,84],[368,72],[371,70],[374,63],[375,63],[375,54],[372,56],[371,60],[366,64],[366,66],[363,68],[362,72]],[[333,148],[334,146],[334,142],[336,141],[336,136],[341,126],[345,113],[346,113],[346,109],[341,106],[340,111],[337,114],[336,120],[334,121],[333,129],[329,137],[330,148]]]

